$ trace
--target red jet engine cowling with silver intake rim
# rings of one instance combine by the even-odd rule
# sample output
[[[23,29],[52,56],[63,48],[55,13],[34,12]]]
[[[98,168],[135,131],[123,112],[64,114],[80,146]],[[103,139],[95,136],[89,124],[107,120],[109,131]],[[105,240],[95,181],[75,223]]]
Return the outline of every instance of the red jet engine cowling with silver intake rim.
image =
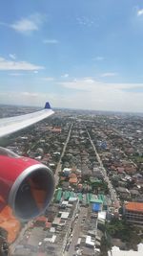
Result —
[[[18,219],[31,220],[46,210],[53,192],[47,166],[0,148],[0,211],[9,204]]]

